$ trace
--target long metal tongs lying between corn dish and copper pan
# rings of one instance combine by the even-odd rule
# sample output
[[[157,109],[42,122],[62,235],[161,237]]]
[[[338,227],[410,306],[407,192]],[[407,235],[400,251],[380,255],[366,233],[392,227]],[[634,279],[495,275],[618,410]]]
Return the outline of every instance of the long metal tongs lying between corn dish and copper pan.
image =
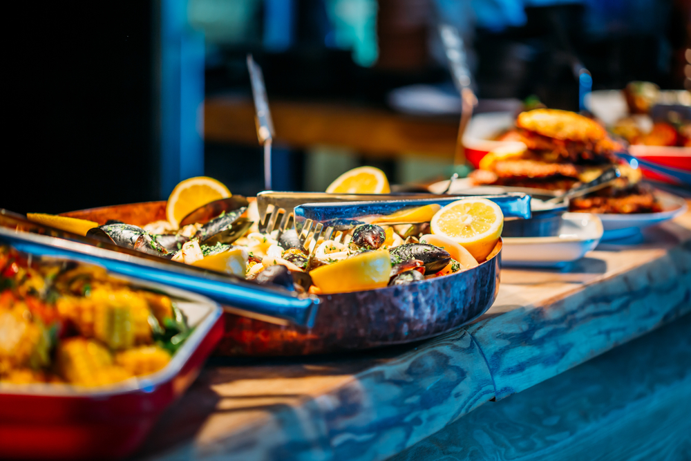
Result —
[[[203,294],[234,314],[279,325],[312,327],[319,298],[258,285],[237,276],[214,274],[200,267],[168,261],[39,225],[0,209],[0,242],[30,254],[57,256],[100,265],[106,270],[145,281]]]

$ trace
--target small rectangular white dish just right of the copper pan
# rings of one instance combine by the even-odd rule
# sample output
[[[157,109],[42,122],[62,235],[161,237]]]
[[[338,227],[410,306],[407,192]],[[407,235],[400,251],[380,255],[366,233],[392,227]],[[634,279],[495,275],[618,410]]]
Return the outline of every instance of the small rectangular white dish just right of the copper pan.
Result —
[[[600,218],[589,213],[565,213],[559,235],[504,237],[502,265],[508,267],[560,267],[583,258],[603,236]]]

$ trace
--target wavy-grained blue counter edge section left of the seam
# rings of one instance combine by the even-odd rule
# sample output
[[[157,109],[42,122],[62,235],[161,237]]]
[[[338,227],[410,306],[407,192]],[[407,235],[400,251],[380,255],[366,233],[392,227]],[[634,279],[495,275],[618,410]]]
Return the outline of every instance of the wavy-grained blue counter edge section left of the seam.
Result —
[[[195,455],[371,460],[398,453],[494,395],[484,358],[466,332],[428,345],[372,366],[300,408],[282,408],[268,424],[207,444]]]

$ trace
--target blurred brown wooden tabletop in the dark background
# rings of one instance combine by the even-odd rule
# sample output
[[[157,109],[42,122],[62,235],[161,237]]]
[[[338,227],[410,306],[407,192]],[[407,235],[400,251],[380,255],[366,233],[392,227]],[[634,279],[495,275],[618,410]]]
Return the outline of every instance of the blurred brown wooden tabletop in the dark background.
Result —
[[[457,117],[415,117],[354,104],[275,100],[271,113],[278,144],[347,147],[370,158],[421,153],[453,160]],[[247,97],[204,102],[204,138],[256,146],[254,105]]]

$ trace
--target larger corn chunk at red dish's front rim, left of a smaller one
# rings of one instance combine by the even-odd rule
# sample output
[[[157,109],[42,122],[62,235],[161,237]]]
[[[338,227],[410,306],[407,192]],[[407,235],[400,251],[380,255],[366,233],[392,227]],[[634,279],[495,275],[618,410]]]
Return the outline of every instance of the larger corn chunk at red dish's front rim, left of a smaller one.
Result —
[[[70,338],[57,348],[57,369],[71,384],[103,386],[131,377],[113,364],[113,356],[102,344],[84,338]]]

